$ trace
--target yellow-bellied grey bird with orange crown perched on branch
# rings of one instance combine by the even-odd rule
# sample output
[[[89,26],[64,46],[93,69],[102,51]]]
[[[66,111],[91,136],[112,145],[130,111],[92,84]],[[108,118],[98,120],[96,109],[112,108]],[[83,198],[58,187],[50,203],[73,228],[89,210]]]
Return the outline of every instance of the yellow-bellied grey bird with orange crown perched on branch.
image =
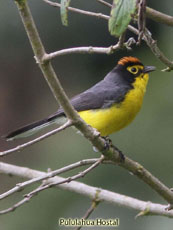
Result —
[[[144,66],[136,57],[123,57],[103,80],[73,97],[70,102],[80,117],[108,136],[127,126],[139,112],[149,75],[154,66]],[[27,137],[41,129],[65,122],[62,108],[40,121],[19,128],[7,140]]]

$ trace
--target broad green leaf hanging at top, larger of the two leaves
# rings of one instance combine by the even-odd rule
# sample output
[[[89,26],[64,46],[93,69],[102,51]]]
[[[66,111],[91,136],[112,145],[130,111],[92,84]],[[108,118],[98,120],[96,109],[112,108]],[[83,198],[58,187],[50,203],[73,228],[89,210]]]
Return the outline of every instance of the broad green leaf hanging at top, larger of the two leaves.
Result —
[[[136,0],[114,0],[109,19],[109,32],[119,37],[130,23],[136,10]]]

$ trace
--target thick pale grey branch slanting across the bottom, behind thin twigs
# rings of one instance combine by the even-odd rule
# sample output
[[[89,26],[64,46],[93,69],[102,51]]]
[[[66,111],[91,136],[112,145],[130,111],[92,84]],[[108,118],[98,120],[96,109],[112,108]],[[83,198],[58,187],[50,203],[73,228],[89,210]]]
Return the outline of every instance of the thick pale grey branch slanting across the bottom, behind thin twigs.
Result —
[[[28,178],[28,179],[41,177],[47,174],[45,172],[32,170],[29,168],[15,166],[15,165],[2,163],[2,162],[0,163],[0,173],[7,174],[7,175],[10,174],[10,175],[14,175],[22,178]],[[64,178],[55,176],[53,178],[49,178],[47,180],[47,183],[59,183],[62,180],[64,180]],[[170,211],[165,210],[165,208],[167,207],[166,205],[141,201],[132,197],[128,197],[104,189],[92,187],[80,182],[71,181],[70,183],[58,185],[58,188],[68,190],[68,191],[73,191],[78,194],[87,196],[91,199],[94,199],[97,194],[97,197],[100,201],[105,201],[116,206],[119,205],[122,207],[131,208],[137,210],[138,212],[144,211],[147,208],[148,215],[161,215],[161,216],[167,216],[173,218],[173,210]]]

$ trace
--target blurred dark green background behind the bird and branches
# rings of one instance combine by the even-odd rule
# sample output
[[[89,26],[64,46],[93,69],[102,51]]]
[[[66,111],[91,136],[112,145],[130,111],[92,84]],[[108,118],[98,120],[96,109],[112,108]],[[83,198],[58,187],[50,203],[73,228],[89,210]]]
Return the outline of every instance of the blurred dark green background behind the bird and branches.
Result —
[[[111,2],[111,1],[110,1]],[[110,46],[116,43],[110,36],[107,22],[69,13],[69,26],[60,21],[59,9],[43,1],[29,1],[33,17],[47,52],[77,46]],[[81,9],[109,14],[109,9],[95,0],[75,0],[72,5]],[[172,14],[172,0],[148,1],[148,6]],[[44,118],[57,109],[35,60],[28,38],[13,1],[0,4],[0,135],[22,125]],[[159,47],[170,59],[173,55],[172,28],[147,21]],[[130,37],[133,34],[128,33]],[[124,130],[111,135],[111,139],[126,155],[138,161],[168,187],[173,187],[173,76],[172,72],[161,72],[165,66],[156,59],[142,42],[133,51],[118,51],[105,54],[73,54],[58,57],[53,66],[69,97],[89,88],[110,71],[124,55],[139,57],[146,65],[155,65],[151,74],[141,112],[135,121]],[[29,139],[28,139],[29,140]],[[1,151],[26,140],[6,142],[0,139]],[[21,152],[1,159],[4,162],[46,171],[57,169],[81,159],[98,157],[91,145],[72,129],[31,146]],[[12,188],[21,178],[0,175],[0,192]],[[120,167],[101,165],[80,181],[132,196],[145,201],[166,202],[146,184]],[[33,187],[1,201],[1,209],[19,201],[22,194]],[[29,203],[13,213],[0,216],[0,229],[56,230],[60,217],[82,217],[90,200],[72,192],[50,189],[40,193]],[[148,230],[172,229],[172,220],[164,217],[142,217],[134,219],[136,211],[102,203],[91,218],[120,218],[118,229]],[[85,229],[85,228],[83,228]],[[98,228],[94,228],[98,229]],[[109,229],[109,228],[106,228]]]

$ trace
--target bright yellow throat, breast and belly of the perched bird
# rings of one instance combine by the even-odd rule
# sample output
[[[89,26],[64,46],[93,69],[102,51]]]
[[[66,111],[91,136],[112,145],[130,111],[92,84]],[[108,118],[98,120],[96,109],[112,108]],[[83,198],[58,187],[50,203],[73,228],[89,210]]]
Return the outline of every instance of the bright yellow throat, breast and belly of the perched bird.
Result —
[[[145,74],[143,78],[136,79],[133,84],[134,89],[127,93],[125,100],[120,104],[106,109],[81,111],[79,115],[86,123],[96,128],[102,136],[119,131],[127,126],[139,112],[147,82],[148,74]]]

